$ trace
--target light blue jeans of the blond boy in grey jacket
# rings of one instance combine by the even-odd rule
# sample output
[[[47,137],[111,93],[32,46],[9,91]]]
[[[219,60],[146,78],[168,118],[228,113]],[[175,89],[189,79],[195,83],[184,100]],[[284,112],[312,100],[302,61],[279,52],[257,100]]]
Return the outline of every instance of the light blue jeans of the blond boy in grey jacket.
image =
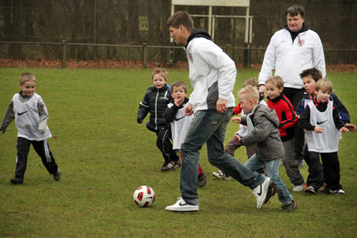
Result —
[[[258,170],[265,165],[266,175],[271,178],[271,187],[278,193],[279,201],[283,202],[283,205],[289,205],[293,202],[293,197],[279,177],[278,167],[280,159],[281,157],[278,157],[276,160],[263,161],[254,154],[244,166],[251,170]]]

